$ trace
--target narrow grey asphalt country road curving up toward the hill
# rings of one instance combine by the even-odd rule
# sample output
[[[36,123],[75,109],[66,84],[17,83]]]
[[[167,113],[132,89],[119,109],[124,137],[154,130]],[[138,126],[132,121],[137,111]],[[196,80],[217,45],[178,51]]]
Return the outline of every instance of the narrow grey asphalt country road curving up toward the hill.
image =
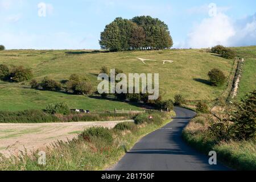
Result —
[[[209,165],[209,157],[193,150],[181,133],[193,111],[175,107],[176,118],[162,129],[142,138],[112,169],[113,171],[204,171],[229,170],[220,163]]]

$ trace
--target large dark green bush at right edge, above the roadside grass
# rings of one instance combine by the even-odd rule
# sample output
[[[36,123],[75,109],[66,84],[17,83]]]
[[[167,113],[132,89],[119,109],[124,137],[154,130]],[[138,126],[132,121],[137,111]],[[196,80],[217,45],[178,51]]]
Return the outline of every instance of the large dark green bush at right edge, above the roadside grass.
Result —
[[[236,138],[240,140],[256,138],[256,90],[238,104],[232,116]]]

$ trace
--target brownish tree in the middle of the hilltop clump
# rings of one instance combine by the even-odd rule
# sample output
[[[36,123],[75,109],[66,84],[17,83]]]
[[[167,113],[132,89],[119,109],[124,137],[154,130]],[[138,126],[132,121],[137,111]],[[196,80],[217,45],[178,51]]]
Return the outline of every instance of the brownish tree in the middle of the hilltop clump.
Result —
[[[142,27],[134,26],[131,30],[130,46],[133,49],[140,49],[144,46],[146,34]]]

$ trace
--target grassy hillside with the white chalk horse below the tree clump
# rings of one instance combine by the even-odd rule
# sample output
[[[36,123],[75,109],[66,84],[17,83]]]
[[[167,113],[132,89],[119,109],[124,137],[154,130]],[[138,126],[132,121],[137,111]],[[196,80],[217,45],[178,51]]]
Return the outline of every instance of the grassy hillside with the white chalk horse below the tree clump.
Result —
[[[250,51],[255,55],[256,47],[251,47]],[[143,64],[137,57],[159,61],[146,61],[147,64]],[[174,63],[163,64],[162,60],[173,60]],[[72,73],[84,73],[95,87],[102,66],[109,69],[119,68],[125,73],[159,73],[160,92],[164,98],[173,99],[175,94],[183,94],[188,100],[212,100],[224,92],[226,85],[220,88],[210,86],[207,82],[208,72],[212,68],[219,68],[229,76],[233,60],[223,59],[204,49],[114,53],[85,50],[13,50],[0,52],[0,64],[30,67],[37,80],[49,76],[61,81],[67,80]],[[255,62],[251,64],[255,68]],[[249,72],[247,75],[255,74],[255,71]],[[115,107],[137,109],[134,105],[122,102],[39,91],[26,88],[26,85],[28,82],[24,85],[0,82],[0,110],[40,109],[56,102],[67,102],[71,107],[90,110],[112,110]],[[246,88],[246,82],[244,85],[243,88]]]

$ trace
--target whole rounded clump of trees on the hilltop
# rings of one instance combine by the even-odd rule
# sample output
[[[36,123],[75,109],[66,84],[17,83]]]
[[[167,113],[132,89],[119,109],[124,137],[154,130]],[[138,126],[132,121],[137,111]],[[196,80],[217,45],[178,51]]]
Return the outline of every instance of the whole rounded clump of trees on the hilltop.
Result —
[[[167,24],[151,16],[116,18],[101,32],[100,46],[111,52],[166,49],[173,45]]]

